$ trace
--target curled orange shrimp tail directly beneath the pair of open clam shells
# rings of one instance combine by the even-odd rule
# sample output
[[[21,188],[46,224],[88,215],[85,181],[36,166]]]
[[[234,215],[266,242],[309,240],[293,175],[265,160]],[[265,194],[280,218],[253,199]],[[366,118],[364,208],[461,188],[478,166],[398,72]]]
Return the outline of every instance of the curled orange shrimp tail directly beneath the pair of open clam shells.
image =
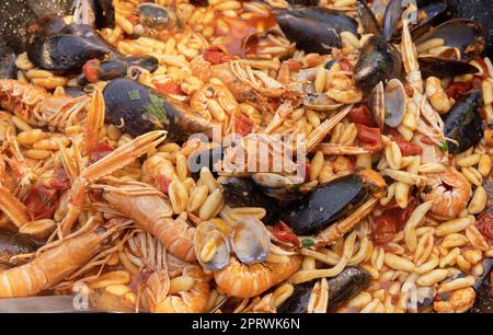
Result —
[[[214,273],[219,290],[228,296],[251,298],[286,280],[301,266],[301,256],[291,255],[286,263],[242,264],[236,257],[229,265]]]

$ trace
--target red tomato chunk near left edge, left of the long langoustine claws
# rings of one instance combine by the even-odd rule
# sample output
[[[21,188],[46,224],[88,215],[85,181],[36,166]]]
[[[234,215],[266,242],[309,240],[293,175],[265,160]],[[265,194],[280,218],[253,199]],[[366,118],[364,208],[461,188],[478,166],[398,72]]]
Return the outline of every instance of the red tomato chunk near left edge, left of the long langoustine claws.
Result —
[[[57,207],[57,190],[36,186],[27,194],[25,205],[32,220],[50,219]]]

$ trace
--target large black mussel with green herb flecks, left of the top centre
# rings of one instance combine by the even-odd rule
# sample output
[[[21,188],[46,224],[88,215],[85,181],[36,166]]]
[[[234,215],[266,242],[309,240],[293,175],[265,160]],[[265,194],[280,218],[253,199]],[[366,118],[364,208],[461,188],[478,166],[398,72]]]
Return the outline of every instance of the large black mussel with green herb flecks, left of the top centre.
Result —
[[[136,81],[118,78],[103,90],[105,122],[119,125],[130,136],[154,129],[168,130],[171,141],[185,141],[192,134],[210,136],[210,127],[181,102],[164,97]]]

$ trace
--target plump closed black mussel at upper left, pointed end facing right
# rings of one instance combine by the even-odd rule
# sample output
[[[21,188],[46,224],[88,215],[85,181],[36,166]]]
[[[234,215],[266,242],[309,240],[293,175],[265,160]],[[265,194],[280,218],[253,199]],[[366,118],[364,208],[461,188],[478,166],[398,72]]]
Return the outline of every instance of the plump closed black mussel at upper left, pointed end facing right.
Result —
[[[77,70],[88,60],[103,58],[106,54],[106,48],[91,39],[65,34],[38,38],[33,48],[27,50],[34,65],[49,71]]]

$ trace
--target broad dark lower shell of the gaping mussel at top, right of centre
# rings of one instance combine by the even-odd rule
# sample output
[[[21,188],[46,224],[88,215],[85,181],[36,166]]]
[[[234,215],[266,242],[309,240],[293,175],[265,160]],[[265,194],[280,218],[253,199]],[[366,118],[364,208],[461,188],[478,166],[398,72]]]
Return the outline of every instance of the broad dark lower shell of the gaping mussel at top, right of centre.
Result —
[[[341,36],[330,23],[286,11],[278,13],[276,20],[286,37],[306,53],[326,55],[333,47],[342,46]]]

